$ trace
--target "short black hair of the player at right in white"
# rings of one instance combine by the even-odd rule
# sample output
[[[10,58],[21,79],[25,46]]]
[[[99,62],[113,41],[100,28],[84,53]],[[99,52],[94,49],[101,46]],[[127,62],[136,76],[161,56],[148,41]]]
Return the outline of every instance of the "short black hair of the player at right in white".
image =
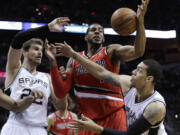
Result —
[[[147,66],[147,75],[153,76],[153,83],[156,84],[162,77],[162,66],[153,59],[144,60],[143,63]]]

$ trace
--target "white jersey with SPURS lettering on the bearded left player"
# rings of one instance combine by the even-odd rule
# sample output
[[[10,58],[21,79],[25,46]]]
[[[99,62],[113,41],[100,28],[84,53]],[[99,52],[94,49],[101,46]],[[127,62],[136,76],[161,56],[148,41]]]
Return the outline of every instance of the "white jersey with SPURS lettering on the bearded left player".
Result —
[[[31,126],[47,126],[47,104],[51,90],[50,81],[46,73],[37,72],[32,75],[27,69],[21,67],[8,88],[11,91],[10,97],[15,101],[30,95],[32,90],[39,90],[44,93],[42,99],[37,99],[23,112],[10,112],[9,120],[15,120]]]

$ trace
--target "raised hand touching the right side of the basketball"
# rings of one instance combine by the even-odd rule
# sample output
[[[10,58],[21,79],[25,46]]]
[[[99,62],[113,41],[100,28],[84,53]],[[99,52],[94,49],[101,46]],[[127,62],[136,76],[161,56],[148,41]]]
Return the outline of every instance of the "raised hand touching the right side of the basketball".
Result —
[[[138,5],[138,9],[137,9],[137,19],[139,22],[144,23],[144,16],[146,14],[147,11],[147,6],[149,4],[150,0],[142,0],[142,4]]]

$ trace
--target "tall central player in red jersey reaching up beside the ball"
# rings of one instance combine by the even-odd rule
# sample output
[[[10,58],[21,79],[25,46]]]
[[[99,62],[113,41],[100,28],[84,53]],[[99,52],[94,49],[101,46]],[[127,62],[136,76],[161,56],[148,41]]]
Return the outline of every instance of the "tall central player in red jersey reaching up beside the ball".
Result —
[[[130,61],[141,57],[146,43],[144,15],[148,3],[149,0],[142,0],[142,5],[138,6],[137,35],[134,46],[111,44],[103,47],[104,29],[99,24],[92,24],[85,35],[87,50],[80,54],[114,73],[119,72],[120,61]],[[68,61],[66,79],[63,81],[58,75],[56,51],[53,51],[53,48],[55,47],[46,47],[46,51],[51,64],[52,83],[56,96],[64,97],[73,84],[78,114],[83,113],[101,126],[125,131],[126,115],[121,89],[94,78],[73,59]]]

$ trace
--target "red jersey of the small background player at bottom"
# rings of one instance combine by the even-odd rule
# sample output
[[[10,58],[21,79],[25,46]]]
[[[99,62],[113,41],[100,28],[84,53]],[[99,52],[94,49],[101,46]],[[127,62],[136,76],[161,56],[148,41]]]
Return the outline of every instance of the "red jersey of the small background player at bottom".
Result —
[[[58,115],[57,112],[54,112],[54,126],[51,128],[51,132],[57,135],[74,135],[74,131],[68,128],[68,123],[73,120],[73,116],[70,111],[65,118]]]

